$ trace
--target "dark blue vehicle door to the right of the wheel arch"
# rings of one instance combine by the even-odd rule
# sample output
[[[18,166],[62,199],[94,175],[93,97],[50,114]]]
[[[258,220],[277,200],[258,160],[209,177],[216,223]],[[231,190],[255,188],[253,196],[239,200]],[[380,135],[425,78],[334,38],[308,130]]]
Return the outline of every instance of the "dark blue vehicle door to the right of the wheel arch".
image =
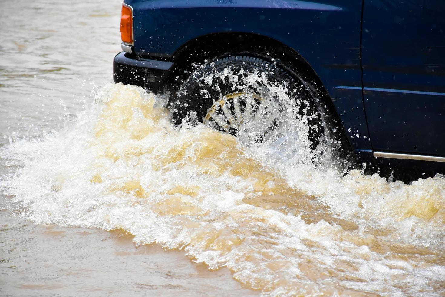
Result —
[[[362,25],[373,150],[445,155],[445,0],[364,0]]]

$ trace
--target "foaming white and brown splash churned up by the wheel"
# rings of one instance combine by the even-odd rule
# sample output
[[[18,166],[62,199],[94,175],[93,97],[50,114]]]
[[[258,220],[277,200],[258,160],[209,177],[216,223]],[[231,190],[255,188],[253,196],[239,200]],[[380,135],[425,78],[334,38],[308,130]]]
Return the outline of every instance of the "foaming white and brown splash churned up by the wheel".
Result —
[[[246,146],[175,127],[165,106],[102,87],[73,126],[1,151],[23,164],[1,189],[36,223],[121,228],[264,295],[445,293],[444,176],[343,177],[308,159],[301,133]]]

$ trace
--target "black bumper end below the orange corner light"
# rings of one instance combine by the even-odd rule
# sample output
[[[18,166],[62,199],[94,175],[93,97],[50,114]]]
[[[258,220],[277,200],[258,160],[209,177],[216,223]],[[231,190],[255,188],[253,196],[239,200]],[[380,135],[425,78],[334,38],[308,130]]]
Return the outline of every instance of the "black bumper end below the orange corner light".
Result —
[[[124,85],[138,85],[158,92],[172,66],[172,62],[144,59],[132,53],[121,52],[113,60],[113,79]]]

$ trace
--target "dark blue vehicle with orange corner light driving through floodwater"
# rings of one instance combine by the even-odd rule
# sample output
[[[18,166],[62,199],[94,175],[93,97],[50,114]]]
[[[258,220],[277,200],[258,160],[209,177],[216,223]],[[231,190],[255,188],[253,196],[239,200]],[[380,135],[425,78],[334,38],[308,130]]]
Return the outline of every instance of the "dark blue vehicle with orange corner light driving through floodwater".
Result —
[[[121,37],[114,81],[170,89],[178,122],[236,134],[244,92],[202,79],[267,73],[307,102],[312,149],[328,133],[374,172],[445,173],[444,0],[125,0]]]

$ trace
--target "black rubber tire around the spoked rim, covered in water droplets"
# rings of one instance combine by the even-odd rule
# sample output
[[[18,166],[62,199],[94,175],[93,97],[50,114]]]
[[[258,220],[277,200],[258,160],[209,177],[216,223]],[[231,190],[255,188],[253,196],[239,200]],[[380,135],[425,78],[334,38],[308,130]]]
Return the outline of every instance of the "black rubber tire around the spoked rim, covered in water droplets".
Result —
[[[204,122],[208,110],[215,104],[214,99],[234,92],[233,82],[227,77],[214,75],[214,73],[223,72],[224,69],[230,69],[238,77],[237,82],[241,86],[243,85],[242,78],[246,77],[247,73],[254,72],[266,73],[268,82],[273,85],[286,85],[287,95],[291,98],[298,98],[301,102],[299,114],[307,115],[309,126],[307,136],[311,150],[316,149],[320,139],[325,135],[325,128],[328,126],[324,120],[324,114],[327,113],[326,106],[322,105],[321,100],[314,95],[313,85],[305,80],[304,75],[291,71],[281,61],[253,55],[229,55],[207,60],[205,64],[196,67],[193,73],[182,81],[179,90],[171,96],[172,116],[176,124],[181,124],[187,118],[190,119],[190,112],[196,114],[194,118],[198,121]],[[255,90],[252,91],[255,92]],[[230,133],[230,131],[226,132]],[[326,132],[327,134],[331,132],[326,135],[328,138],[338,138],[339,140],[341,138],[339,135],[333,135],[332,129]],[[261,141],[261,139],[259,140]],[[344,137],[341,140],[347,142],[347,140],[344,141]],[[338,143],[341,144],[341,140]],[[337,150],[340,151],[338,155],[341,155],[341,158],[350,159],[349,157],[352,155],[350,149],[340,147]]]

